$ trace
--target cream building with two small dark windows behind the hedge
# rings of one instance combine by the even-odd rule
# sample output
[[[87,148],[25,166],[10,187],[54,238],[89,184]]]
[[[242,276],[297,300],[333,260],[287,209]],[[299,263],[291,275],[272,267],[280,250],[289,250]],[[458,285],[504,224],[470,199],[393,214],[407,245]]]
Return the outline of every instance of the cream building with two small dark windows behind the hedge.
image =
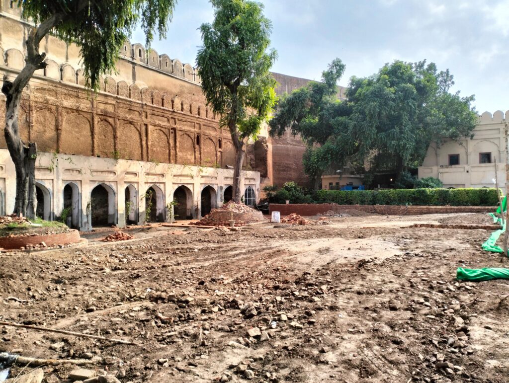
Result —
[[[499,187],[505,190],[505,122],[509,111],[484,112],[473,131],[473,137],[432,143],[419,178],[435,177],[445,188],[494,187],[495,161]]]

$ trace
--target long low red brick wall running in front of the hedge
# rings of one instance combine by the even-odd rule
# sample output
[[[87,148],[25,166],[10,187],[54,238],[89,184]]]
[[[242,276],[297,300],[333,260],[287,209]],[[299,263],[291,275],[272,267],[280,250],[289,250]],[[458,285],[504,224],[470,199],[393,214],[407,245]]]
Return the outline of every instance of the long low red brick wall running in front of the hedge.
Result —
[[[269,204],[269,212],[280,212],[281,216],[297,213],[301,216],[314,216],[332,210],[343,213],[345,210],[358,210],[366,213],[384,215],[420,215],[443,213],[491,213],[497,207],[490,206],[397,206],[397,205],[338,205],[336,203],[291,203]]]

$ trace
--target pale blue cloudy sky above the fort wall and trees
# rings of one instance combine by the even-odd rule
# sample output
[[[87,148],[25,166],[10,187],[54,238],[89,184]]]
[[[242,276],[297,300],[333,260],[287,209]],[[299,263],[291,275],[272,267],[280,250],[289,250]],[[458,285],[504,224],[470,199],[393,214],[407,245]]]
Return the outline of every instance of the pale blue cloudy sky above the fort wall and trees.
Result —
[[[449,69],[460,95],[479,113],[509,109],[508,0],[262,0],[272,21],[273,72],[320,80],[336,57],[339,84],[376,73],[394,60],[426,59]],[[179,0],[164,40],[152,48],[194,66],[198,28],[212,22],[208,0]],[[145,42],[137,29],[131,43]]]

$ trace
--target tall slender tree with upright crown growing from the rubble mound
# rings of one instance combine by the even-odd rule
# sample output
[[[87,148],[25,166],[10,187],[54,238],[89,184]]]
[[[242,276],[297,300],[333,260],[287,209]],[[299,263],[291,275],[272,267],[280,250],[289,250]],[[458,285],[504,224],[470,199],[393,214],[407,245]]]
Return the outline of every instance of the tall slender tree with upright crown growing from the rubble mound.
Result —
[[[240,202],[240,173],[245,145],[256,139],[272,112],[276,81],[270,68],[275,50],[267,52],[272,29],[263,5],[246,0],[211,0],[212,24],[202,24],[203,46],[196,64],[207,103],[221,116],[236,152],[232,199]]]

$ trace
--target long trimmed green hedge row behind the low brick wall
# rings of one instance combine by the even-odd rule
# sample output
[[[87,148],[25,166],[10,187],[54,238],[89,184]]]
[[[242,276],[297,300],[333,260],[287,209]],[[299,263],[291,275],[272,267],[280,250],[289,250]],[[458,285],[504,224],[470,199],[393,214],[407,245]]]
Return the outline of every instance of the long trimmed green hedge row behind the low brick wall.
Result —
[[[496,206],[496,189],[319,190],[317,202],[340,205]]]

